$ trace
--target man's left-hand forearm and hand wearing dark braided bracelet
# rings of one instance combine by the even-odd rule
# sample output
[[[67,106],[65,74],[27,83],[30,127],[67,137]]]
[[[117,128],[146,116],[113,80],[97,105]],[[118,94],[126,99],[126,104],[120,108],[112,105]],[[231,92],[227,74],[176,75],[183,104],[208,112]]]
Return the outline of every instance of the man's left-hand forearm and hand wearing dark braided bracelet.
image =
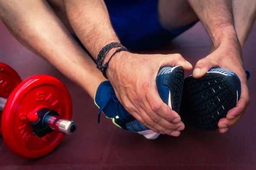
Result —
[[[64,5],[73,30],[94,59],[105,45],[119,42],[104,0],[64,0]],[[112,52],[112,49],[108,52],[105,62]],[[160,68],[176,65],[192,69],[179,54],[140,55],[120,51],[107,69],[108,79],[125,109],[154,132],[172,136],[179,136],[184,125],[180,116],[160,98],[156,76]]]

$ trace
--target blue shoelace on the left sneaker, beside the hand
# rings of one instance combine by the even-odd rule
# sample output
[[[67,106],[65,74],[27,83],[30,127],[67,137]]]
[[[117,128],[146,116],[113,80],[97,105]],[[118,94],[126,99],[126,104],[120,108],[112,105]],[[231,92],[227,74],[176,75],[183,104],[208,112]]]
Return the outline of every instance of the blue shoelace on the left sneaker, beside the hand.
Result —
[[[124,108],[122,107],[122,105],[119,103],[118,99],[116,98],[116,95],[111,94],[110,99],[108,100],[108,102],[106,102],[105,105],[103,105],[102,107],[99,108],[99,112],[98,112],[98,123],[100,121],[100,115],[102,113],[102,111],[105,109],[105,107],[111,103],[111,108],[114,109],[114,114],[115,117],[119,116],[119,120],[120,121],[124,121],[125,119],[128,119],[128,117],[125,115],[125,111],[123,110]]]

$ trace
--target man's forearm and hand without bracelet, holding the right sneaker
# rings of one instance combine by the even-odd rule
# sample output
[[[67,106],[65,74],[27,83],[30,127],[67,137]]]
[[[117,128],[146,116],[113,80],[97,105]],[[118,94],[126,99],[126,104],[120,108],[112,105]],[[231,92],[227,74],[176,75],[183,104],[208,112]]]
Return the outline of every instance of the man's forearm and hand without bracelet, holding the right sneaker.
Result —
[[[241,96],[236,107],[218,122],[219,131],[225,133],[241,118],[250,103],[241,59],[241,47],[244,42],[239,42],[237,37],[232,0],[189,0],[189,3],[212,39],[212,50],[216,49],[198,61],[193,77],[202,77],[210,68],[221,67],[234,71],[241,80]]]

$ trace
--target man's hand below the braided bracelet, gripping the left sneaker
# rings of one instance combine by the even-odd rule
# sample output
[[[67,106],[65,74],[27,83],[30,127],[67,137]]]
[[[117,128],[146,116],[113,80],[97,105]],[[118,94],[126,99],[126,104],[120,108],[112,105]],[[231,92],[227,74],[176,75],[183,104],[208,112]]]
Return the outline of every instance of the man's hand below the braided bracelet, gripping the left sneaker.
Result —
[[[180,54],[142,55],[122,51],[111,59],[107,69],[108,79],[125,109],[154,132],[171,136],[179,136],[185,126],[160,98],[156,77],[161,68],[176,65],[192,69]]]

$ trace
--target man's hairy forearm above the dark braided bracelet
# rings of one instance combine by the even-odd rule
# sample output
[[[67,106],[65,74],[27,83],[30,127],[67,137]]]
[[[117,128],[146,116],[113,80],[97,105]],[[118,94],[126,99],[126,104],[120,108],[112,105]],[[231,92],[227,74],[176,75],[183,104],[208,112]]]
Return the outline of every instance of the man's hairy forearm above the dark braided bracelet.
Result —
[[[104,0],[65,0],[70,23],[83,45],[97,58],[108,43],[119,42]]]

